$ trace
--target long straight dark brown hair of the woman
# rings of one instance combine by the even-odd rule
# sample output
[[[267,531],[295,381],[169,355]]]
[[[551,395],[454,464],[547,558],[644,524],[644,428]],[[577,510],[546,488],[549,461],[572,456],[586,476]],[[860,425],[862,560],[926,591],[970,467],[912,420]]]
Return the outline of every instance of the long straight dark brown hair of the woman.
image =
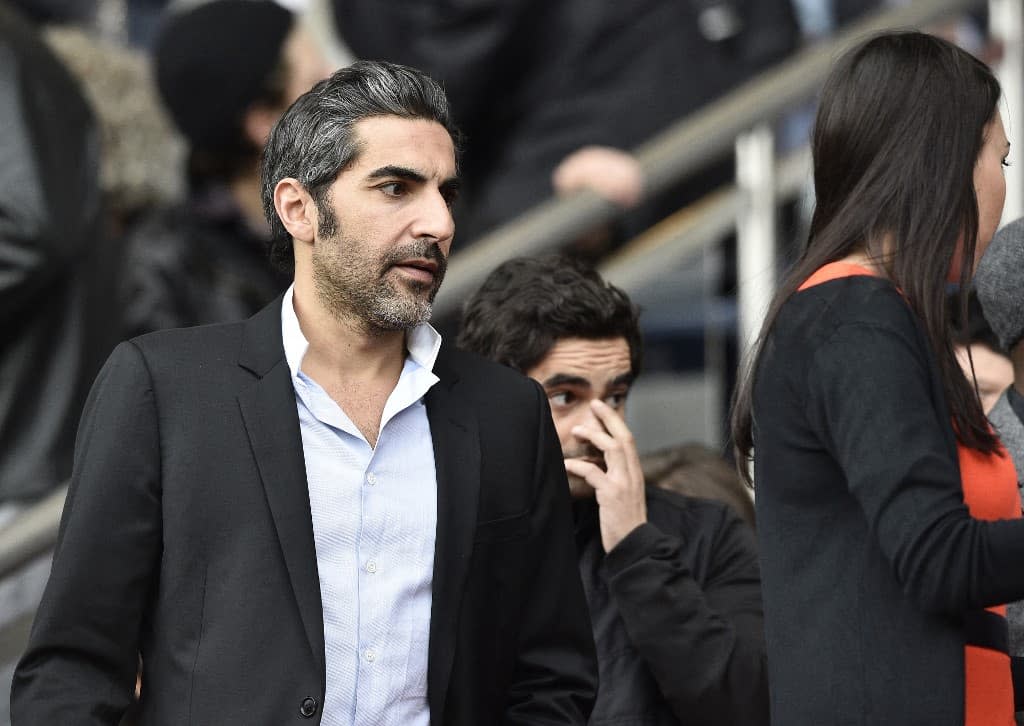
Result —
[[[946,280],[961,249],[966,295],[978,237],[974,168],[999,84],[980,60],[923,33],[873,37],[843,56],[821,91],[812,137],[817,206],[809,241],[768,308],[733,400],[736,464],[754,447],[754,374],[786,300],[822,265],[866,251],[924,326],[958,440],[993,452],[991,433],[953,353]],[[884,242],[891,245],[883,249]],[[966,309],[966,299],[961,302]]]

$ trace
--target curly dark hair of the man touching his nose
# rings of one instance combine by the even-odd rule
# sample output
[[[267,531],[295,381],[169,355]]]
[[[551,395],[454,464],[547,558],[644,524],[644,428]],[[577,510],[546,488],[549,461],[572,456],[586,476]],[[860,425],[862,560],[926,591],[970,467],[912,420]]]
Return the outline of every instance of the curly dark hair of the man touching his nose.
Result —
[[[463,307],[457,345],[525,373],[563,338],[625,338],[631,373],[640,373],[636,305],[596,270],[564,255],[501,264]]]

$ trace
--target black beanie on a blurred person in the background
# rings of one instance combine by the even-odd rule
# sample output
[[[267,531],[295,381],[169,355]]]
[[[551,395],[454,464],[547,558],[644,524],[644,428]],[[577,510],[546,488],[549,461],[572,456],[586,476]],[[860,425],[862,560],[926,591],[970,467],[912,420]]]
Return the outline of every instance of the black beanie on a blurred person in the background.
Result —
[[[238,144],[238,122],[278,66],[294,19],[271,0],[210,0],[164,19],[157,86],[194,148]]]

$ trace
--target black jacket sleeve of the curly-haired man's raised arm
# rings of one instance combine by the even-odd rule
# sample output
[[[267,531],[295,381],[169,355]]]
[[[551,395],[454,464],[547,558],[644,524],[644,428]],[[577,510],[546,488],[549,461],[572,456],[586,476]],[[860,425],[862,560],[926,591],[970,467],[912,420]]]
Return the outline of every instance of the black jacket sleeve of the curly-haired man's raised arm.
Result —
[[[710,522],[707,578],[683,553],[690,532],[651,523],[604,560],[608,589],[633,647],[680,723],[768,723],[761,586],[750,527],[724,506]]]

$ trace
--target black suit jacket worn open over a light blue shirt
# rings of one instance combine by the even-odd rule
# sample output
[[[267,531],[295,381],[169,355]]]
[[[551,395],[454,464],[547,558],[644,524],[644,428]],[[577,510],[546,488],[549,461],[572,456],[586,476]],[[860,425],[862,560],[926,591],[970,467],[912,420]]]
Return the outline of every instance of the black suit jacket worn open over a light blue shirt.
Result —
[[[13,723],[317,723],[324,626],[281,302],[121,344],[90,394]],[[442,350],[433,724],[583,724],[596,665],[551,415],[518,374]],[[300,711],[315,706],[311,718]]]

